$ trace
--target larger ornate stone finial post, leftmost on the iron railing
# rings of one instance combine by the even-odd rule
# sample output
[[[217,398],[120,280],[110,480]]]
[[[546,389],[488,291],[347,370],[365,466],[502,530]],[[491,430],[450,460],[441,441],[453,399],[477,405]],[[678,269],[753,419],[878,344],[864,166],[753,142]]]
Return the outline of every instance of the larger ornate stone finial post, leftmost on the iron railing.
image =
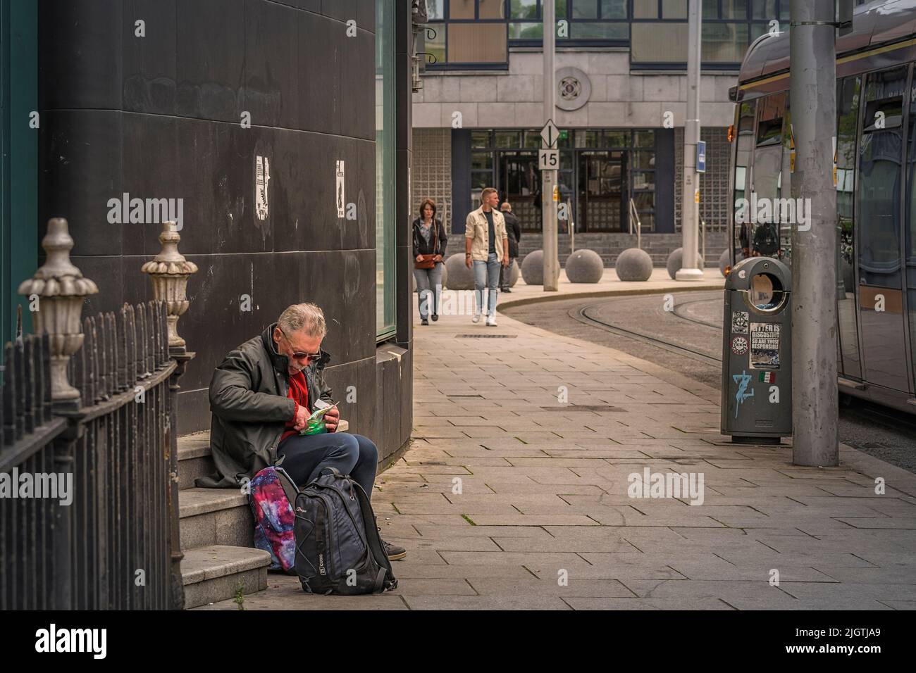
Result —
[[[67,221],[48,221],[48,233],[41,241],[48,254],[35,276],[19,285],[19,294],[30,299],[35,333],[47,332],[51,350],[51,399],[79,399],[80,391],[67,380],[67,363],[82,346],[82,300],[99,288],[70,261],[73,239]]]

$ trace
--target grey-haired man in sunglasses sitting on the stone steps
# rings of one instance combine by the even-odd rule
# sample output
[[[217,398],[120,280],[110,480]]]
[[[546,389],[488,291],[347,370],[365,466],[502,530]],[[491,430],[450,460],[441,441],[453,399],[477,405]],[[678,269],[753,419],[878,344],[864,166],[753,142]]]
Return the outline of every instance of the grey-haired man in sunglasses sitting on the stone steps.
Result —
[[[325,467],[350,474],[372,497],[378,450],[362,435],[336,432],[340,411],[325,415],[326,432],[300,435],[311,410],[332,407],[321,345],[327,325],[314,304],[293,304],[260,336],[249,339],[216,367],[210,382],[210,448],[216,474],[197,486],[237,487],[268,465],[280,465],[304,486]],[[389,559],[407,552],[385,542]]]

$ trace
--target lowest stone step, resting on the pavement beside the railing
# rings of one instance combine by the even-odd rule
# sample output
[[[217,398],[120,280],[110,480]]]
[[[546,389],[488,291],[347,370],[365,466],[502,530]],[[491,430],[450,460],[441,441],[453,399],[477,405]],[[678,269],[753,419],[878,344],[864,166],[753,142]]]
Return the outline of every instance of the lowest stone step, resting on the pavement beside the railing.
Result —
[[[267,589],[270,554],[261,549],[208,545],[188,549],[181,560],[184,607],[195,608]]]

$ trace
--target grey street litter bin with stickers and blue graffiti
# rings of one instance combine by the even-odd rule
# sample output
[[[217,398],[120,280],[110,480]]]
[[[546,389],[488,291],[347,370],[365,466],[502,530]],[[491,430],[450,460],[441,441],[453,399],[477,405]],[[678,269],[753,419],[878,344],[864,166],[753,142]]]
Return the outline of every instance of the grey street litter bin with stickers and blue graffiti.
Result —
[[[780,443],[792,434],[791,271],[772,257],[741,260],[725,278],[722,434]]]

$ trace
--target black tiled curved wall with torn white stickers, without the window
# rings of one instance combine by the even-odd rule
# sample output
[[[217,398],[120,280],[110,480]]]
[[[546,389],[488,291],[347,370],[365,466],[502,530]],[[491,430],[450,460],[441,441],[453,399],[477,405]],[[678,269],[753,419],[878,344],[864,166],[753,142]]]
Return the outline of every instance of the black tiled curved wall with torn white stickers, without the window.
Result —
[[[376,373],[375,2],[39,0],[39,54],[39,213],[69,220],[73,262],[100,288],[84,315],[152,296],[140,267],[161,225],[109,223],[108,201],[183,200],[180,251],[200,271],[179,321],[197,353],[180,433],[209,428],[206,388],[225,353],[308,300],[328,318],[344,418],[397,450],[406,437],[376,413],[382,389],[387,411],[409,400],[409,371],[396,381],[389,365],[385,385]],[[258,156],[270,166],[263,220]],[[355,220],[337,219],[338,159]]]

